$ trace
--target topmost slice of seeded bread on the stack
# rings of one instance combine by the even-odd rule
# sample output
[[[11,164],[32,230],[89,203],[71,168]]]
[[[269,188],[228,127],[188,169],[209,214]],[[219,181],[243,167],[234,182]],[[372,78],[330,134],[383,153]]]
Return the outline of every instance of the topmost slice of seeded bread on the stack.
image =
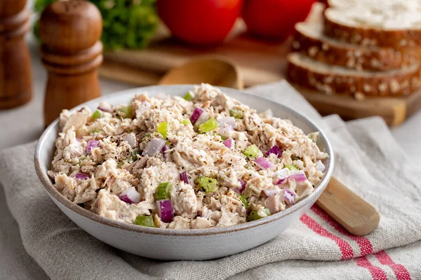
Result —
[[[418,10],[356,6],[327,8],[323,15],[324,33],[340,41],[390,48],[421,44],[421,11]]]

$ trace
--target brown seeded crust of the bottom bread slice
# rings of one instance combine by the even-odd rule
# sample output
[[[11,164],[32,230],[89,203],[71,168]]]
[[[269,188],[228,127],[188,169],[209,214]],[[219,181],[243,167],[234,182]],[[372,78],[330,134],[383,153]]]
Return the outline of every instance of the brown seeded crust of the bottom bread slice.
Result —
[[[379,72],[376,76],[349,75],[347,73],[326,73],[296,64],[288,55],[288,79],[303,87],[326,94],[364,94],[375,97],[396,97],[408,95],[421,86],[420,67],[413,71],[401,70],[392,73]]]

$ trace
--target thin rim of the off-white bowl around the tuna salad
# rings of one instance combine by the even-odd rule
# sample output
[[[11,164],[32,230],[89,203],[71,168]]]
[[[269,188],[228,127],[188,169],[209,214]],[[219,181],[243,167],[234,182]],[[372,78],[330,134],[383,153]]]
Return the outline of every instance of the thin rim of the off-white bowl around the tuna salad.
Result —
[[[88,106],[88,104],[94,104],[94,103],[98,104],[102,100],[106,100],[106,99],[115,97],[117,95],[125,95],[129,93],[132,93],[134,95],[136,91],[147,92],[148,90],[151,90],[156,87],[165,89],[165,88],[171,88],[171,87],[194,87],[194,86],[196,85],[152,85],[152,86],[146,86],[146,87],[133,87],[128,90],[121,90],[118,92],[114,92],[112,94],[107,94],[107,95],[98,97],[96,99],[92,99],[88,102],[84,102],[83,104],[80,104],[70,109],[69,111],[70,112],[76,111],[83,106]],[[218,88],[222,90],[222,92],[227,92],[227,95],[229,95],[229,91],[235,91],[235,92],[240,92],[241,94],[246,94],[248,97],[251,97],[252,99],[263,99],[267,102],[275,103],[276,106],[279,106],[281,108],[281,110],[290,111],[290,113],[293,113],[294,115],[298,116],[298,118],[305,120],[310,125],[310,127],[314,129],[315,132],[319,132],[319,134],[323,138],[323,141],[325,141],[325,147],[324,147],[326,150],[325,152],[328,153],[330,158],[329,158],[329,164],[326,167],[326,173],[321,179],[321,181],[319,182],[319,185],[316,188],[314,188],[313,193],[311,193],[304,199],[300,200],[296,204],[293,204],[293,206],[283,211],[279,211],[278,213],[268,216],[266,218],[261,218],[257,221],[250,221],[247,223],[241,223],[239,225],[230,225],[230,226],[221,227],[221,228],[176,230],[176,229],[168,229],[168,228],[142,227],[142,226],[134,225],[131,223],[115,221],[115,220],[112,220],[111,218],[105,218],[91,211],[88,211],[87,209],[84,209],[82,207],[79,207],[79,205],[74,204],[74,202],[67,200],[65,196],[63,196],[61,193],[58,192],[56,188],[54,188],[53,183],[51,182],[51,179],[49,179],[48,177],[48,174],[42,171],[41,162],[39,161],[39,158],[40,158],[41,152],[44,151],[44,145],[47,139],[47,135],[52,133],[51,131],[54,129],[56,125],[58,125],[59,118],[55,119],[53,123],[51,123],[51,125],[48,125],[46,130],[44,130],[44,132],[41,134],[41,137],[39,138],[38,143],[36,144],[36,149],[34,153],[34,165],[35,165],[35,170],[39,178],[39,181],[41,181],[42,185],[44,186],[44,189],[46,190],[48,195],[53,198],[53,200],[55,200],[56,202],[60,202],[60,204],[62,204],[64,207],[74,212],[74,214],[79,214],[83,216],[84,218],[88,218],[89,220],[92,220],[94,222],[101,223],[102,225],[108,225],[113,228],[120,228],[121,230],[128,230],[130,232],[149,234],[149,235],[177,235],[177,236],[185,236],[185,237],[186,236],[197,237],[197,236],[203,236],[203,235],[218,235],[218,234],[226,234],[226,233],[232,233],[232,232],[239,232],[242,230],[248,230],[249,228],[255,228],[261,225],[265,225],[267,223],[272,223],[285,216],[293,214],[293,212],[298,211],[302,207],[305,207],[307,204],[312,202],[314,197],[319,197],[321,193],[323,192],[323,190],[328,185],[328,181],[330,180],[330,177],[333,174],[333,167],[335,165],[335,157],[333,153],[333,148],[330,144],[330,141],[326,137],[326,134],[323,132],[323,130],[321,130],[318,125],[313,123],[312,120],[309,120],[309,118],[302,115],[302,113],[299,113],[298,111],[295,111],[289,106],[281,104],[274,99],[257,96],[249,92],[246,92],[244,90],[236,90],[229,87],[218,87]]]

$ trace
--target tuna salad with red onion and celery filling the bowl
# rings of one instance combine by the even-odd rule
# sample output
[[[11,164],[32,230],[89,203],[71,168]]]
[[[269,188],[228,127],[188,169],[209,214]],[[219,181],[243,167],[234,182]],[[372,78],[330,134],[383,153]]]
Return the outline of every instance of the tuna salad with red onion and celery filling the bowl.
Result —
[[[302,200],[328,158],[290,120],[202,84],[185,97],[60,115],[48,175],[68,200],[115,221],[156,228],[226,227]]]

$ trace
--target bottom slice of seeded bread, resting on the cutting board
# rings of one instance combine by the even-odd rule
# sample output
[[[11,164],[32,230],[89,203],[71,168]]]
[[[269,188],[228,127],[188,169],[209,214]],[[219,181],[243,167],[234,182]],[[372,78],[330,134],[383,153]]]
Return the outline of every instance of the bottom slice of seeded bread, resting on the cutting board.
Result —
[[[410,94],[420,88],[418,64],[389,71],[358,71],[317,62],[300,52],[288,55],[288,78],[326,94],[365,94],[378,97]]]

